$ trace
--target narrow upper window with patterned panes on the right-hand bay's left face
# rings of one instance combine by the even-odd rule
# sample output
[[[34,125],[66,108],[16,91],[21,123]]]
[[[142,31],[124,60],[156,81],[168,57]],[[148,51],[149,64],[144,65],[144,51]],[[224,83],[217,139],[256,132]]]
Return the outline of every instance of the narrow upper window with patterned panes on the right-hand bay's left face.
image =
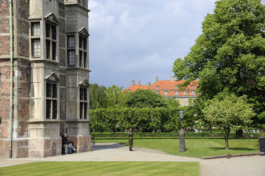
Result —
[[[67,60],[68,66],[75,66],[75,38],[67,36]]]

